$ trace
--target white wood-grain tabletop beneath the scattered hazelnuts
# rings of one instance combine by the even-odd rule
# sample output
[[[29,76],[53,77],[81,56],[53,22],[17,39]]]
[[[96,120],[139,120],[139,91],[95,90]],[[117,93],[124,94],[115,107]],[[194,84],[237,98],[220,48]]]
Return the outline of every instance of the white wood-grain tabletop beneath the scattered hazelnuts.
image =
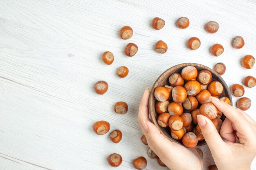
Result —
[[[254,0],[0,0],[0,170],[133,170],[138,156],[147,158],[146,170],[167,169],[148,158],[140,140],[137,112],[144,89],[184,62],[210,68],[224,62],[222,77],[229,86],[256,76],[256,66],[240,65],[244,55],[256,56],[255,11]],[[190,20],[184,30],[175,26],[182,16]],[[162,30],[152,29],[154,17],[166,21]],[[220,24],[217,33],[204,30],[211,20]],[[134,30],[129,40],[119,38],[125,25]],[[236,35],[245,40],[242,49],[231,46]],[[192,36],[201,40],[195,51],[186,48]],[[158,40],[168,44],[165,54],[154,51]],[[124,55],[129,42],[139,47],[134,57]],[[219,57],[209,53],[215,43],[225,48]],[[101,61],[104,51],[115,55],[110,66]],[[130,70],[124,79],[116,75],[119,66]],[[99,80],[109,84],[105,95],[94,93]],[[252,99],[247,113],[256,119],[256,88],[245,88],[244,96]],[[113,112],[118,101],[128,103],[126,115]],[[119,144],[109,133],[93,132],[92,124],[102,119],[110,122],[110,131],[122,130]],[[201,149],[207,170],[213,159],[207,146]],[[119,168],[106,161],[113,152],[123,157]]]

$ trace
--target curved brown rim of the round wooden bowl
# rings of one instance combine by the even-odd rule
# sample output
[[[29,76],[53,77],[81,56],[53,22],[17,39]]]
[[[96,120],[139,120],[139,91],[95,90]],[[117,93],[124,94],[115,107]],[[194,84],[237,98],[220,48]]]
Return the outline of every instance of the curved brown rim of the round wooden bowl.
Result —
[[[197,64],[197,63],[182,63],[182,64],[177,64],[175,66],[172,66],[171,68],[168,68],[166,71],[164,71],[158,78],[157,80],[155,81],[155,83],[153,84],[152,88],[151,88],[151,91],[150,91],[150,95],[149,95],[149,101],[148,101],[148,110],[149,110],[149,116],[151,118],[151,121],[153,122],[153,124],[155,124],[155,126],[159,129],[159,131],[164,135],[164,137],[166,137],[167,139],[169,139],[170,141],[172,142],[175,142],[177,144],[182,144],[182,142],[180,141],[177,141],[175,139],[173,139],[165,130],[164,128],[162,128],[161,126],[158,125],[157,123],[157,119],[152,119],[154,116],[153,116],[153,110],[155,110],[155,97],[154,97],[154,91],[155,91],[155,88],[157,87],[156,84],[158,83],[158,80],[160,78],[162,78],[162,76],[165,75],[166,72],[170,72],[169,75],[165,75],[167,78],[174,72],[172,72],[172,70],[174,69],[180,69],[182,67],[185,67],[185,66],[195,66],[195,67],[200,67],[200,68],[203,68],[205,70],[208,70],[210,71],[214,76],[216,76],[218,78],[218,80],[221,82],[222,86],[224,87],[224,90],[225,90],[225,93],[226,93],[226,96],[229,97],[230,99],[230,104],[231,106],[233,105],[233,102],[232,102],[232,97],[231,97],[231,92],[226,84],[226,82],[224,81],[224,79],[222,79],[222,77],[216,72],[214,71],[213,69],[207,67],[207,66],[204,66],[202,64]],[[155,112],[155,114],[157,114]],[[225,119],[225,115],[223,114],[224,116],[224,119]],[[206,144],[205,141],[202,141],[200,142],[200,146]]]

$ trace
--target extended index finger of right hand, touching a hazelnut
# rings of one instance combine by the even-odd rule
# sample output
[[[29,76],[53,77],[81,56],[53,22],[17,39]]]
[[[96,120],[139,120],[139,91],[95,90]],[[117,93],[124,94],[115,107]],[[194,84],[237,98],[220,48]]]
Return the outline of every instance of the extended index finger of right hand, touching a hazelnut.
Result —
[[[248,128],[250,128],[250,125],[242,113],[226,102],[220,101],[216,97],[210,98],[211,102],[234,124],[236,129],[239,129],[241,133],[248,135]]]

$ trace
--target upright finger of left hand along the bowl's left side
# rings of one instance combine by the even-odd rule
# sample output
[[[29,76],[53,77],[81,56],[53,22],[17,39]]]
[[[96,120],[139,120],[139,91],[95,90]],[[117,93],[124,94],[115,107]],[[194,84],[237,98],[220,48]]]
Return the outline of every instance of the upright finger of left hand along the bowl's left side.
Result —
[[[149,98],[149,87],[146,88],[144,94],[141,98],[140,105],[139,105],[139,114],[138,114],[138,121],[141,124],[143,120],[150,121],[148,117],[148,98]]]

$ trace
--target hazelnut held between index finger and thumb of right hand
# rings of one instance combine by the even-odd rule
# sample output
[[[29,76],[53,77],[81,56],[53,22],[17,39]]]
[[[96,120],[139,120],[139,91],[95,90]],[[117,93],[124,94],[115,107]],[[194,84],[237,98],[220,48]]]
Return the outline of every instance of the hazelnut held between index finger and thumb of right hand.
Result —
[[[218,115],[218,109],[213,103],[204,103],[200,106],[200,114],[208,117],[210,120],[215,119]]]

